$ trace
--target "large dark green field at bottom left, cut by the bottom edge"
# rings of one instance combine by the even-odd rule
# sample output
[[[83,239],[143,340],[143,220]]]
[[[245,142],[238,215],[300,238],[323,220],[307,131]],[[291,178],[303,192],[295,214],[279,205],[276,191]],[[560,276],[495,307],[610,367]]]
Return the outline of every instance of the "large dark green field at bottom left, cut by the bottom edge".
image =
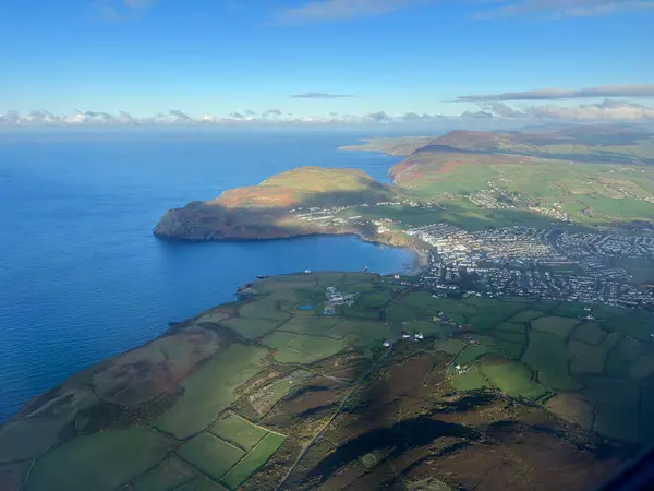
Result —
[[[175,444],[147,428],[82,436],[38,459],[25,491],[112,491],[159,464]]]

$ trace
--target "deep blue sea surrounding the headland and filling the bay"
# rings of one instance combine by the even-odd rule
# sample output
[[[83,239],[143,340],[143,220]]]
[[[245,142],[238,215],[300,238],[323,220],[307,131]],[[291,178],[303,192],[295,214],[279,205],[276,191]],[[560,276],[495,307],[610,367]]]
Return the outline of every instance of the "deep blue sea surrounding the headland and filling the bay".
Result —
[[[403,250],[353,237],[183,243],[161,214],[304,165],[388,181],[399,159],[342,152],[353,133],[0,134],[0,420],[66,376],[234,298],[257,274],[390,273]]]

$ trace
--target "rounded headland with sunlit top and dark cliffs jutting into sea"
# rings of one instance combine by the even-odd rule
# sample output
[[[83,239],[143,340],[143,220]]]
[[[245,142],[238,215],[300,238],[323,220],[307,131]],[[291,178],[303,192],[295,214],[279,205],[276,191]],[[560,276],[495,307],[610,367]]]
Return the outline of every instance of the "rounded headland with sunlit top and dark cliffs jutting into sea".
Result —
[[[301,167],[266,179],[258,185],[226,191],[207,202],[194,201],[169,209],[155,235],[174,239],[256,240],[307,235],[359,235],[375,240],[375,228],[344,216],[338,220],[314,220],[312,211],[335,213],[358,205],[392,200],[396,191],[358,169]],[[391,233],[388,233],[391,236]],[[400,241],[387,238],[385,243]]]

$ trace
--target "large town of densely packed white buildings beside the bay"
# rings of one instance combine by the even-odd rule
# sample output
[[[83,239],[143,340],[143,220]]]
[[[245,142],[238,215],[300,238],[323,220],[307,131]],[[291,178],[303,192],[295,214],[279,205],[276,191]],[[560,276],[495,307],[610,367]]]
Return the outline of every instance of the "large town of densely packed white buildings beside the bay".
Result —
[[[528,227],[477,232],[451,224],[407,231],[433,246],[421,284],[489,297],[529,296],[654,310],[654,287],[632,282],[615,258],[654,260],[654,238]]]

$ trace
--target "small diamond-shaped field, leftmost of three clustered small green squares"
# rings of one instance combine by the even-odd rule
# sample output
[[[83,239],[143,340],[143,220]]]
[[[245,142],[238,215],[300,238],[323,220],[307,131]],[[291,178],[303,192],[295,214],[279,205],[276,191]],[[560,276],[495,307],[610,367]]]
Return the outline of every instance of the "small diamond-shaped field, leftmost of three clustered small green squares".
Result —
[[[177,454],[207,476],[219,480],[243,458],[245,452],[205,432],[184,443]]]

